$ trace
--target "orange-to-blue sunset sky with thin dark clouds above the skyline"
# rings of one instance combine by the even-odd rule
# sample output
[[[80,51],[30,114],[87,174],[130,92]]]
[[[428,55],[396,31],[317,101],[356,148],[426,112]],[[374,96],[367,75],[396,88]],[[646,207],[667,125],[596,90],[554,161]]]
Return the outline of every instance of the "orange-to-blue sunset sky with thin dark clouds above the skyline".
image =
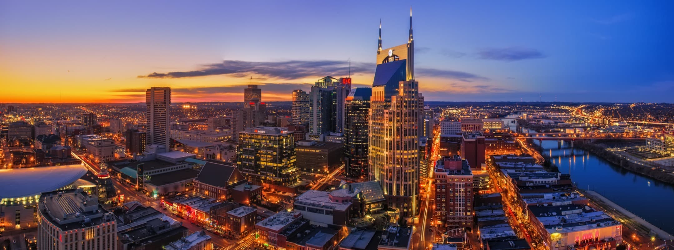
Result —
[[[0,1],[0,102],[290,100],[349,60],[371,86],[410,4],[426,100],[674,102],[674,1]]]

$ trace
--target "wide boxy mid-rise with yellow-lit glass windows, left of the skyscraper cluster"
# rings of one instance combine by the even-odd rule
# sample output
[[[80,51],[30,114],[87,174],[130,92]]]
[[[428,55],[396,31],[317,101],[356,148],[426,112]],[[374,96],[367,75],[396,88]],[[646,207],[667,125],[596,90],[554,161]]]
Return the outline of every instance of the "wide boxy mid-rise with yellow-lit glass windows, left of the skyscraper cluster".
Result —
[[[239,133],[237,167],[248,181],[291,191],[299,182],[295,137],[286,127],[253,127]]]

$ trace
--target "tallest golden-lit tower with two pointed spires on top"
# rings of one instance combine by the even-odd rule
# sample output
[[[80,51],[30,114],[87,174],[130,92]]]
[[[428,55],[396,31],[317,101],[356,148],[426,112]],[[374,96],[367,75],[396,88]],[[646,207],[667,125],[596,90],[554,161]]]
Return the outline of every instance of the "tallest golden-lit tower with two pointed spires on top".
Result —
[[[414,75],[412,15],[406,44],[379,48],[369,121],[369,177],[381,184],[389,208],[419,212],[419,83]]]

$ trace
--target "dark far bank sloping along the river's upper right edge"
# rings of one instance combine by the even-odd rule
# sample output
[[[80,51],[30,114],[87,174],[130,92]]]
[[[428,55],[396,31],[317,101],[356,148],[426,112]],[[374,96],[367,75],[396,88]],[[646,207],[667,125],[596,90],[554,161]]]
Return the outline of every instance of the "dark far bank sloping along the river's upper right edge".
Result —
[[[662,181],[663,183],[674,185],[674,175],[672,175],[671,173],[665,173],[663,170],[660,170],[658,168],[644,166],[642,164],[638,164],[630,160],[627,160],[623,158],[623,156],[619,156],[618,154],[615,154],[615,152],[607,150],[607,148],[605,148],[601,144],[580,144],[578,145],[578,148],[581,148],[582,150],[585,150],[587,152],[591,152],[592,154],[599,156],[604,160],[616,164],[626,170],[630,170],[640,175],[645,175],[652,179]]]

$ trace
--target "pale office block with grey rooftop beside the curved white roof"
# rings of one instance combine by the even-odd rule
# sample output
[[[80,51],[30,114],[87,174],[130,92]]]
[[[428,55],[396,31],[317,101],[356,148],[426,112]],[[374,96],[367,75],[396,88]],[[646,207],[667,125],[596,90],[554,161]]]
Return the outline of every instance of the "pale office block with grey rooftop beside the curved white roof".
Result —
[[[98,197],[82,189],[42,193],[38,206],[38,249],[117,249],[117,224]]]

